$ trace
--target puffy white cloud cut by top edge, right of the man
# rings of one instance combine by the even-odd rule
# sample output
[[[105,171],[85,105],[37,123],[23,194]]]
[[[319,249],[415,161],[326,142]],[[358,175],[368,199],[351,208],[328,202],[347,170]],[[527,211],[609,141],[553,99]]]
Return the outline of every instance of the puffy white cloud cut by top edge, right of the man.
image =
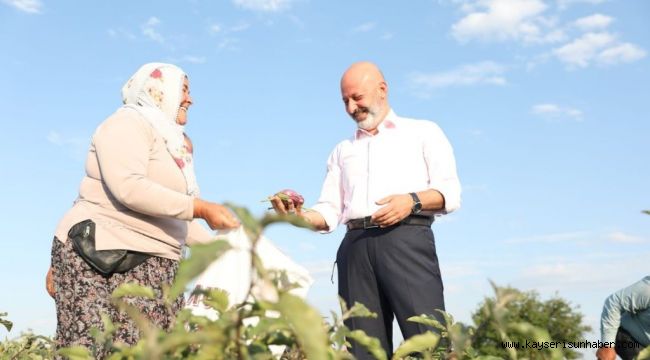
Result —
[[[464,3],[469,12],[452,26],[452,34],[462,42],[521,40],[525,43],[561,41],[564,33],[555,21],[541,16],[547,6],[542,0],[476,0]]]

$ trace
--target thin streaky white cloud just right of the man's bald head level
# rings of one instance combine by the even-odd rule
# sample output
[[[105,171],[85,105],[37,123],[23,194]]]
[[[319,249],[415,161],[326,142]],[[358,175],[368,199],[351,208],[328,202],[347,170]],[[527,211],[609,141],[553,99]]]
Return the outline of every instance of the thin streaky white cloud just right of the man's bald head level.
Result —
[[[507,83],[503,74],[503,65],[492,61],[463,65],[456,69],[433,74],[415,73],[411,75],[411,83],[416,87],[436,89],[449,86],[470,85],[504,85]]]

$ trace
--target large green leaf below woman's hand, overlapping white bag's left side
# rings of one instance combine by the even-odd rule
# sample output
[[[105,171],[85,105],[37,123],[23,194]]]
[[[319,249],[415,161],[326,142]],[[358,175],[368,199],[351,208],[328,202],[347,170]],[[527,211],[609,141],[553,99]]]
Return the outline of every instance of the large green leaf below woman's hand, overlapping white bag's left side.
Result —
[[[176,272],[176,279],[167,294],[169,303],[175,301],[185,291],[185,287],[190,281],[201,274],[214,260],[230,250],[231,246],[225,240],[216,240],[191,246],[190,249],[190,257],[181,261],[178,272]]]

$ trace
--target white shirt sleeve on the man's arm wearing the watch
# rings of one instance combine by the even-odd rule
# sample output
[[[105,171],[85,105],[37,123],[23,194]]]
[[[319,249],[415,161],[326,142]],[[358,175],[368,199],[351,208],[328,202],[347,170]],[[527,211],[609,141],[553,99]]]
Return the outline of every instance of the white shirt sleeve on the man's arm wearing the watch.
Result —
[[[456,172],[454,151],[442,132],[431,123],[424,141],[424,158],[427,163],[429,188],[439,191],[445,199],[442,213],[447,214],[460,208],[461,186]]]

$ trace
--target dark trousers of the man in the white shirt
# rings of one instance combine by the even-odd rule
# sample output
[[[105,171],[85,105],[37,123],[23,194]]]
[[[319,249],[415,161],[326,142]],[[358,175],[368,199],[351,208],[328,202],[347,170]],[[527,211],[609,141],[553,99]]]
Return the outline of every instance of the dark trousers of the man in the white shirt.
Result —
[[[393,318],[405,339],[432,330],[407,321],[411,316],[444,310],[442,279],[433,232],[428,226],[398,225],[384,229],[350,230],[336,255],[339,295],[349,307],[360,302],[377,318],[351,318],[345,324],[363,330],[393,352]],[[360,346],[357,359],[372,359]]]

